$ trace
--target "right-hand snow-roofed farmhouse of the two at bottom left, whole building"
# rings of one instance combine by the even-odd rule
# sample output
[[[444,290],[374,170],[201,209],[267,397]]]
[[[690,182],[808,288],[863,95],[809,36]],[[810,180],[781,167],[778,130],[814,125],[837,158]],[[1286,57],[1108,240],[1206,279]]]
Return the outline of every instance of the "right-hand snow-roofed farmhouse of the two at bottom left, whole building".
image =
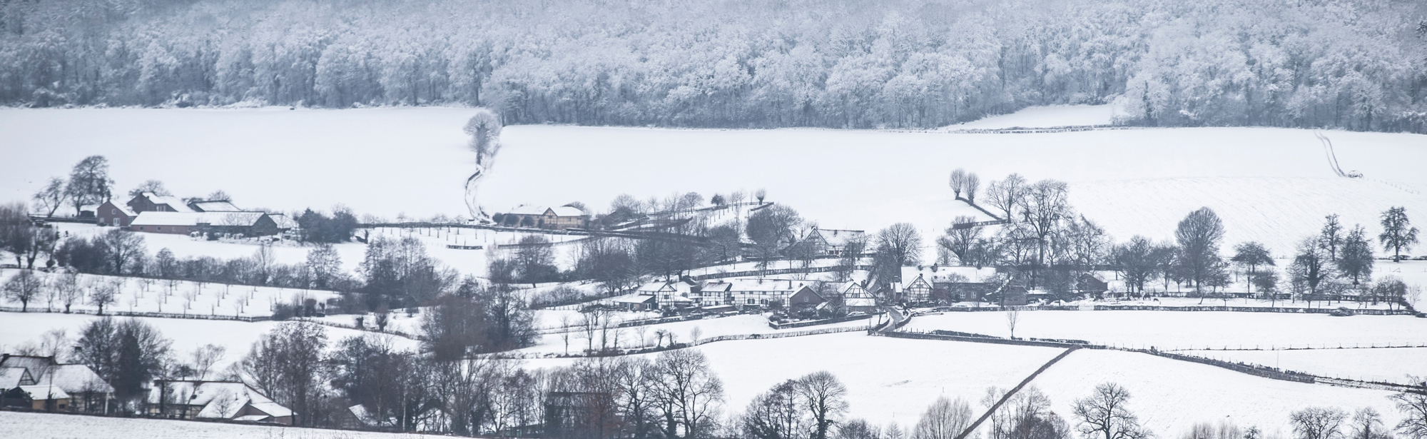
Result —
[[[147,412],[176,419],[233,419],[293,425],[293,410],[241,382],[154,381]]]

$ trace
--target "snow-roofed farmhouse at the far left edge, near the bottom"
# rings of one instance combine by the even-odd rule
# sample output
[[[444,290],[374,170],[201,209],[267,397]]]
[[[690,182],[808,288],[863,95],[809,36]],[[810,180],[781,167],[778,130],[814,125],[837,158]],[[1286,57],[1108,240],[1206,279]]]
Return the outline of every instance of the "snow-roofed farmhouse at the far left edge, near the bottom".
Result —
[[[16,388],[30,389],[11,392]],[[114,399],[114,388],[88,366],[61,365],[53,356],[0,356],[0,391],[7,405],[23,398],[36,409],[106,412]]]

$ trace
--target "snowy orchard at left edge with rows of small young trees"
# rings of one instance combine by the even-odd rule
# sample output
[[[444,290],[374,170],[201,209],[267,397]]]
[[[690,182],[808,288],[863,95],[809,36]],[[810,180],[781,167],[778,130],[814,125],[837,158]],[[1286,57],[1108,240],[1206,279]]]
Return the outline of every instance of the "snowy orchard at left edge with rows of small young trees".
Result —
[[[14,277],[19,269],[0,269],[0,284]],[[54,282],[59,274],[36,271],[46,282]],[[218,316],[270,316],[277,304],[291,304],[294,299],[307,298],[325,304],[327,299],[338,296],[332,291],[275,288],[275,286],[247,286],[188,281],[144,281],[128,277],[78,275],[77,279],[86,298],[76,301],[70,309],[98,311],[98,306],[88,302],[88,294],[96,285],[110,284],[118,286],[114,304],[106,311],[126,312],[164,312],[186,315],[218,315]],[[47,289],[49,291],[49,289]],[[19,301],[0,298],[0,305],[20,308]],[[64,311],[61,299],[49,299],[46,294],[30,302],[30,311]]]

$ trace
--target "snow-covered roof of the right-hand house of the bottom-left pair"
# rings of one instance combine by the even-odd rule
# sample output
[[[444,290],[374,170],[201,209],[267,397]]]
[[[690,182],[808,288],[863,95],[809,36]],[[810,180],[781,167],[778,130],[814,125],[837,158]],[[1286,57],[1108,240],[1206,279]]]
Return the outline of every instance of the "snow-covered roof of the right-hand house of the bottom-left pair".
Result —
[[[251,405],[254,409],[268,413],[273,418],[293,416],[291,409],[273,402],[273,399],[241,382],[166,381],[161,386],[156,385],[148,389],[148,403],[160,402],[160,391],[173,401],[203,406],[197,418],[234,419],[244,405]]]

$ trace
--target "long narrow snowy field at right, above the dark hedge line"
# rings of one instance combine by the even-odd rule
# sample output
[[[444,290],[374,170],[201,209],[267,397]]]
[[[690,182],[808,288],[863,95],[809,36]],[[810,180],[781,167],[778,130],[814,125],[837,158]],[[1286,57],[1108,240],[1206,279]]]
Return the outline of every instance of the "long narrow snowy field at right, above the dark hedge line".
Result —
[[[913,318],[909,331],[948,329],[1006,336],[1005,312]],[[1407,315],[1199,311],[1023,311],[1016,336],[1083,339],[1126,348],[1204,349],[1427,344],[1427,319]]]

